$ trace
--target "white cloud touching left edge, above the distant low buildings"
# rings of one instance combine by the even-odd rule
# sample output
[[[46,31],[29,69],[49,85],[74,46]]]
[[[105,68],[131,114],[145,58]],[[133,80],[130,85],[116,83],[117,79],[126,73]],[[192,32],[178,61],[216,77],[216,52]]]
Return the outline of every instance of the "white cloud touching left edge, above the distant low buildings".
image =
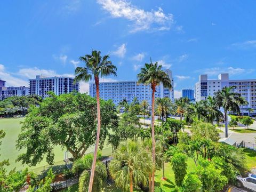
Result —
[[[6,86],[28,86],[28,81],[13,76],[6,71],[5,66],[2,64],[0,64],[0,77],[2,80],[6,81]]]

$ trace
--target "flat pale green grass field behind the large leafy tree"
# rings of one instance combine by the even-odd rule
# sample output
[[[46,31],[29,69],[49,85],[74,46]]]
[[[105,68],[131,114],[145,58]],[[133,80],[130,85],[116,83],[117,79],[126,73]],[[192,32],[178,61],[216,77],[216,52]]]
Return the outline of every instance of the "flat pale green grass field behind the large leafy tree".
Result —
[[[2,145],[0,146],[0,161],[3,159],[9,159],[10,166],[7,166],[7,171],[10,171],[16,167],[17,170],[25,169],[20,162],[15,162],[15,159],[17,159],[18,155],[24,150],[18,151],[15,147],[16,140],[18,139],[18,135],[21,132],[21,124],[20,122],[23,121],[24,118],[4,118],[0,119],[0,129],[4,130],[5,137],[2,140]],[[91,146],[86,153],[91,153],[94,150],[94,146]],[[105,148],[102,150],[102,155],[110,155],[111,154],[111,146],[105,146]],[[64,158],[64,152],[61,150],[61,148],[55,147],[54,148],[54,165],[62,165],[64,164],[63,158]],[[70,156],[71,157],[71,156]],[[31,170],[36,172],[37,174],[41,173],[43,171],[43,166],[49,167],[49,165],[46,163],[45,159],[39,163],[37,166],[30,167]]]

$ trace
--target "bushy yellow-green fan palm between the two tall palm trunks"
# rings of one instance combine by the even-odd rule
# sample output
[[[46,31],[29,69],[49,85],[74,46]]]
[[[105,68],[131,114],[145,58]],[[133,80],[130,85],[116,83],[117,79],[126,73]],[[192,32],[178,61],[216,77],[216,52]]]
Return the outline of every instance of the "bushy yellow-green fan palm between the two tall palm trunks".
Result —
[[[133,191],[133,185],[147,184],[147,173],[153,162],[148,151],[140,143],[127,140],[122,142],[109,163],[109,171],[118,187]]]

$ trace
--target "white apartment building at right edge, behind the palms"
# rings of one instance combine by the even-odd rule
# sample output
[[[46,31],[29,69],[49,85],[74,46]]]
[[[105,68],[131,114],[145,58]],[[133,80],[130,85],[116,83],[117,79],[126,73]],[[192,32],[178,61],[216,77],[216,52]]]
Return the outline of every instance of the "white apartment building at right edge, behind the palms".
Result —
[[[243,113],[249,114],[247,108],[254,109],[256,111],[256,79],[241,79],[230,80],[228,74],[220,74],[218,79],[208,79],[207,75],[199,75],[199,81],[195,85],[195,98],[196,101],[205,100],[209,95],[212,97],[214,93],[221,90],[225,86],[236,86],[234,92],[240,93],[249,104],[243,106]],[[241,106],[242,108],[242,106]]]

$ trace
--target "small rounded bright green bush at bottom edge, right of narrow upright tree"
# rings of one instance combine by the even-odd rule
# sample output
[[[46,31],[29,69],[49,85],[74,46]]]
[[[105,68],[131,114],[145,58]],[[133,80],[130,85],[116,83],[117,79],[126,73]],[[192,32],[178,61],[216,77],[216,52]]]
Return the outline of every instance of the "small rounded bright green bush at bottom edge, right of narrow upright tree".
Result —
[[[202,188],[202,182],[198,178],[198,175],[189,173],[185,179],[184,186],[187,192],[199,192]]]

